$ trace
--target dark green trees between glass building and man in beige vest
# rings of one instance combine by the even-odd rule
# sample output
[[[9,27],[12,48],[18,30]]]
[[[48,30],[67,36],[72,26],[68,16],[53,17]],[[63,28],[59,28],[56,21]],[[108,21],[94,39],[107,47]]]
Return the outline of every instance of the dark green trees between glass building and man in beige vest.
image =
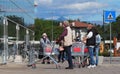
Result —
[[[39,40],[42,37],[42,33],[46,32],[49,39],[55,40],[62,32],[62,28],[59,26],[59,22],[54,20],[35,19],[35,39]],[[53,31],[53,32],[52,32]]]

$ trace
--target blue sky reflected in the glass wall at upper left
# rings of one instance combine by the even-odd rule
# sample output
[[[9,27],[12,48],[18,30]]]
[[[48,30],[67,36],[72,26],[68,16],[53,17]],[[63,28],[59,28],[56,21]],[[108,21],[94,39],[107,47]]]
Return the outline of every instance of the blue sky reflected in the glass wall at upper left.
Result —
[[[0,0],[0,16],[16,15],[34,24],[34,0]],[[3,11],[3,12],[1,12]]]

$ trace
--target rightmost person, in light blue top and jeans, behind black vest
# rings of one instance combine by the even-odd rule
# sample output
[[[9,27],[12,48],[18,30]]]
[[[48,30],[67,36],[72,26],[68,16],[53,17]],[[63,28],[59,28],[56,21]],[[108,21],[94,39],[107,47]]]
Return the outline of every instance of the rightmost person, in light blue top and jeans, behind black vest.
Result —
[[[99,61],[99,50],[100,50],[100,43],[101,43],[101,36],[98,33],[98,30],[95,28],[95,38],[96,38],[96,44],[95,44],[95,48],[94,48],[94,52],[95,52],[95,64],[96,66],[98,65],[98,61]]]

